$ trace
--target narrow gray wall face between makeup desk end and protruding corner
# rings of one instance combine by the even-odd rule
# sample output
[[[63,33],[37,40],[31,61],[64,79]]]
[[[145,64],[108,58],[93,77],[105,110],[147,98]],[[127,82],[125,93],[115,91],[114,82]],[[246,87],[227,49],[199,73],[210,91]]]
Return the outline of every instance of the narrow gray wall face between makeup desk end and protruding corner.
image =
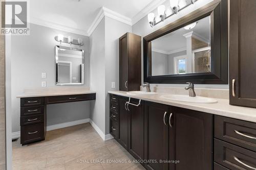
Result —
[[[90,36],[90,87],[96,100],[90,103],[90,118],[105,132],[105,19]]]

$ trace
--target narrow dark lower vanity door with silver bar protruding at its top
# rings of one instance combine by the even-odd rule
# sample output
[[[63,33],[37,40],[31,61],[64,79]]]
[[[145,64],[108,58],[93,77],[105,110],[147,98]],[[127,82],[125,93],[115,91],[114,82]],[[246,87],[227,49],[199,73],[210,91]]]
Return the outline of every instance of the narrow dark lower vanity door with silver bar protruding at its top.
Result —
[[[138,104],[138,99],[131,99]],[[129,147],[128,151],[137,160],[144,159],[144,101],[139,106],[129,105]]]

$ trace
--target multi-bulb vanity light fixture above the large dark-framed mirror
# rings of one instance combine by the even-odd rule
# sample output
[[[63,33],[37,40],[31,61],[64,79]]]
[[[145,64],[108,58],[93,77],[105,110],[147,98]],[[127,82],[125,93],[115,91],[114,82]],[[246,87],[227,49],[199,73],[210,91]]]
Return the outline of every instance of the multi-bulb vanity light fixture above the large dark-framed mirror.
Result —
[[[155,25],[157,25],[158,23],[164,21],[166,18],[174,15],[174,14],[177,14],[180,10],[186,8],[187,6],[191,5],[191,4],[195,4],[196,1],[198,0],[183,0],[185,3],[180,3],[179,4],[179,0],[169,0],[170,2],[170,9],[173,11],[173,12],[168,12],[169,9],[166,10],[165,6],[164,5],[160,5],[158,8],[157,8],[157,12],[158,12],[158,16],[160,17],[160,19],[158,19],[158,17],[156,18],[155,17],[155,14],[154,13],[149,13],[147,14],[147,19],[148,19],[148,22],[150,23],[150,26],[151,27],[154,27]]]

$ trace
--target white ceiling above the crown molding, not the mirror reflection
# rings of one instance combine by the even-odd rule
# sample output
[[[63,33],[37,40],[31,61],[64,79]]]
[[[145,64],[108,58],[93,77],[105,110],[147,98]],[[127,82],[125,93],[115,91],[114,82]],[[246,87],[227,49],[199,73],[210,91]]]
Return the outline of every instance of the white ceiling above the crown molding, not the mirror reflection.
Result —
[[[88,32],[101,7],[133,18],[156,0],[31,0],[30,17]],[[33,22],[32,22],[33,23]]]

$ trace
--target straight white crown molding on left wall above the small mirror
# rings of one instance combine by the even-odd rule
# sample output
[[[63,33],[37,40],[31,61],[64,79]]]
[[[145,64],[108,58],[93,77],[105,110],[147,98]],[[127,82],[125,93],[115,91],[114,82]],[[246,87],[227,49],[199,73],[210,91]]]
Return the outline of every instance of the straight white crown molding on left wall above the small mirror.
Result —
[[[59,25],[58,23],[42,20],[42,19],[35,18],[35,17],[30,17],[30,23],[34,23],[39,26],[49,27],[49,28],[56,29],[56,30],[61,30],[61,31],[66,31],[66,32],[74,33],[74,34],[88,36],[88,33],[84,30]]]

